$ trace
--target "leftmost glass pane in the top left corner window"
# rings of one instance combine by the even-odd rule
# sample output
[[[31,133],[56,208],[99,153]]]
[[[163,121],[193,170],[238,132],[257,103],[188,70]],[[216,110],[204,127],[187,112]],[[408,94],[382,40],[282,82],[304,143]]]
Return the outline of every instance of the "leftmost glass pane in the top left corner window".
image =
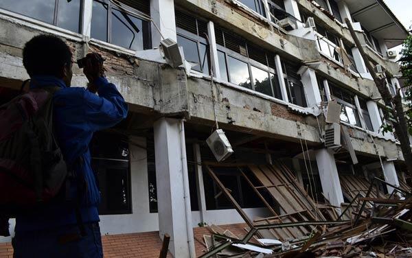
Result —
[[[53,24],[55,0],[1,0],[0,8]]]

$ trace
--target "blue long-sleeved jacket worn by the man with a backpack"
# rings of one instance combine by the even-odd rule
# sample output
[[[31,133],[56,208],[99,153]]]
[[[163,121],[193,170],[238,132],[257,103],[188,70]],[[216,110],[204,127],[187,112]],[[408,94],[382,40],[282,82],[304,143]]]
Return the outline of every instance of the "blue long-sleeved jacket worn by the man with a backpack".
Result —
[[[111,128],[122,121],[128,113],[128,106],[114,84],[106,78],[98,78],[98,95],[81,87],[67,87],[65,82],[55,77],[34,76],[30,89],[45,86],[59,86],[54,94],[55,136],[65,161],[76,161],[74,174],[84,176],[87,193],[84,195],[80,212],[83,222],[98,222],[100,192],[91,169],[89,143],[93,132]],[[79,159],[82,157],[82,159]],[[69,196],[76,196],[78,188],[71,182]],[[77,224],[75,209],[67,202],[50,204],[16,218],[15,231],[31,231],[56,226]]]

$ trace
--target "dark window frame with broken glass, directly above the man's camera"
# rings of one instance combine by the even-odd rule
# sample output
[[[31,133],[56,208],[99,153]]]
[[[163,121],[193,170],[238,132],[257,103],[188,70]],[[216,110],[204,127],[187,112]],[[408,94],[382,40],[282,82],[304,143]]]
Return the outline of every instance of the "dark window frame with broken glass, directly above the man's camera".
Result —
[[[84,0],[82,0],[84,1]],[[150,17],[148,17],[147,14],[144,14],[144,12],[141,12],[131,6],[128,6],[124,3],[119,2],[119,5],[121,5],[123,8],[120,8],[119,6],[115,5],[114,3],[112,3],[110,0],[91,0],[92,4],[93,2],[98,2],[101,5],[107,5],[107,9],[106,9],[106,40],[100,40],[98,38],[93,38],[93,40],[99,40],[102,41],[104,43],[108,43],[111,45],[115,45],[118,47],[123,47],[124,49],[130,49],[128,47],[124,47],[121,45],[117,45],[115,43],[113,43],[113,38],[112,38],[112,10],[117,10],[118,12],[122,12],[125,13],[127,15],[133,16],[134,18],[140,19],[142,21],[145,21],[148,23],[148,34],[146,35],[147,37],[145,37],[143,35],[143,27],[141,28],[141,33],[142,33],[142,39],[143,39],[143,49],[141,50],[145,50],[145,49],[151,49],[152,48],[152,33],[151,33],[151,25],[150,25]],[[130,10],[128,10],[130,9]],[[93,13],[93,8],[92,11]],[[90,22],[90,27],[91,27],[91,31],[93,30],[93,25],[92,22]],[[92,38],[92,36],[91,36]],[[131,49],[133,50],[133,49]],[[135,50],[133,50],[135,51]]]

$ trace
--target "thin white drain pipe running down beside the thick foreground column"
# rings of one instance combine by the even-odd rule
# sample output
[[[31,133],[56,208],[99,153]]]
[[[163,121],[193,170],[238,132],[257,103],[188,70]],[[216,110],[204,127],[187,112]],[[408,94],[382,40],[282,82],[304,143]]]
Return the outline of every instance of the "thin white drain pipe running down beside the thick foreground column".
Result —
[[[183,172],[183,198],[185,199],[185,212],[186,212],[186,231],[187,231],[187,244],[189,245],[190,258],[196,257],[196,251],[194,250],[194,236],[192,226],[192,209],[190,207],[190,191],[189,191],[189,174],[187,172],[187,156],[186,156],[186,144],[185,144],[185,119],[181,119],[180,122],[180,137],[181,137],[181,158],[182,158],[182,172]]]

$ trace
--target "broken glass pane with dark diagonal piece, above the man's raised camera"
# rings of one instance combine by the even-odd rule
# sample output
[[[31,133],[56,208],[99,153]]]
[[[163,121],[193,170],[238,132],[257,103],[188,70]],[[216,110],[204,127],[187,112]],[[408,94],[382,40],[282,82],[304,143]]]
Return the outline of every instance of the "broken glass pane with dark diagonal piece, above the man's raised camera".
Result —
[[[144,22],[141,19],[113,10],[111,13],[111,43],[133,50],[143,50]]]

